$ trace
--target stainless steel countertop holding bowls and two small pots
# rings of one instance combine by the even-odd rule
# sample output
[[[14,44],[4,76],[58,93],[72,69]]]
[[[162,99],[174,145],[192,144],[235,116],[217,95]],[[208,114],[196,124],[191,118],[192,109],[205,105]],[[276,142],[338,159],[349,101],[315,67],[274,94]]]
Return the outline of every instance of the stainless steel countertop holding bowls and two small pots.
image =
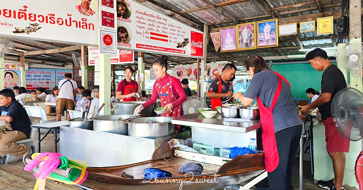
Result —
[[[217,129],[231,132],[247,133],[261,128],[260,120],[251,122],[226,122],[221,114],[217,113],[215,118],[207,119],[200,113],[186,114],[171,120],[172,124],[195,126],[200,128]]]

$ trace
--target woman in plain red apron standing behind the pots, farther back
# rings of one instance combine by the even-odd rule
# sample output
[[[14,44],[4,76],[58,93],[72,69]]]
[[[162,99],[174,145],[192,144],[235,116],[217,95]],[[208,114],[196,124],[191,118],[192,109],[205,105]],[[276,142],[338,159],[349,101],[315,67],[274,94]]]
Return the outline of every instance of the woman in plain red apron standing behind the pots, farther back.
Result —
[[[125,79],[117,85],[116,99],[123,99],[124,102],[136,101],[135,94],[138,92],[138,84],[140,84],[141,79],[138,78],[137,82],[131,79],[132,74],[134,74],[134,68],[131,66],[127,66],[124,71]]]

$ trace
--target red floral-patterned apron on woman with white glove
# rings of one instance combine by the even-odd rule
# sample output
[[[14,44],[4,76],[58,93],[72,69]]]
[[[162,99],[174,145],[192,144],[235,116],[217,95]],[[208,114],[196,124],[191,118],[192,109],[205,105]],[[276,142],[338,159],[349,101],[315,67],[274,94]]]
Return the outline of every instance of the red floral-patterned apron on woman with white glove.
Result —
[[[160,85],[160,83],[158,81],[156,81],[156,82],[157,83],[155,84],[155,86],[156,86],[156,90],[159,93],[162,107],[177,100],[173,93],[173,90],[172,90],[171,77],[170,77],[169,82],[165,86]],[[165,113],[161,114],[161,116],[177,118],[180,116],[180,110],[181,110],[181,105],[179,105],[178,107],[172,108],[170,110],[170,112],[165,112]],[[175,133],[178,133],[178,131],[180,129],[180,125],[174,125],[174,129],[175,129]]]

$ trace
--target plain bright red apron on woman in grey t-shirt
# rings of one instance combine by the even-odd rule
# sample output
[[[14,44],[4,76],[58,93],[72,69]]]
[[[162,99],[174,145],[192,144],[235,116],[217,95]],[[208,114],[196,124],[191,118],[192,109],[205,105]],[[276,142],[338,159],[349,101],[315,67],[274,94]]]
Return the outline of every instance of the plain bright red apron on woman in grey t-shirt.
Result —
[[[272,111],[281,93],[281,87],[282,87],[281,79],[284,80],[290,86],[286,78],[284,78],[281,74],[277,72],[274,73],[277,74],[278,76],[278,85],[270,108],[266,108],[264,104],[262,104],[260,97],[257,96],[257,103],[258,103],[258,108],[260,109],[260,117],[262,125],[262,145],[264,146],[265,167],[267,172],[274,171],[279,164]]]

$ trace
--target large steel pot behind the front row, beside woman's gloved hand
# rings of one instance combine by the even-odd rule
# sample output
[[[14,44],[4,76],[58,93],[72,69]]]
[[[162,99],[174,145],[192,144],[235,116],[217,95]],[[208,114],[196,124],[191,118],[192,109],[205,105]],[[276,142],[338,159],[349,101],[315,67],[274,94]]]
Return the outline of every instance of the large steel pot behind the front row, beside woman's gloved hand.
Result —
[[[115,115],[133,115],[135,108],[145,102],[112,102]],[[140,112],[140,117],[150,117],[154,106],[144,108]]]

